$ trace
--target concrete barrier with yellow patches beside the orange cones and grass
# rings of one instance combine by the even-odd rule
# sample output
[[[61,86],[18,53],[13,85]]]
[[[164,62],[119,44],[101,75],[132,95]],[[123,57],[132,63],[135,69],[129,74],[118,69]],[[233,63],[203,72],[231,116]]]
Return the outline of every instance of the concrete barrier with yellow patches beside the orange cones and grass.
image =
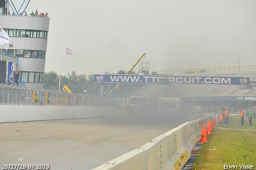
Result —
[[[110,160],[93,170],[181,170],[200,141],[209,117],[181,124],[139,149]],[[203,122],[203,123],[202,123]]]

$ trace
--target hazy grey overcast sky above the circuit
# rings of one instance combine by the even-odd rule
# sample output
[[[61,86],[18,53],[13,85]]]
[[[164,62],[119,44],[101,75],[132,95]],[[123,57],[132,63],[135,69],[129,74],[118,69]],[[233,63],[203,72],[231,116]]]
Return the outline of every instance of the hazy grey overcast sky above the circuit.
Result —
[[[50,17],[46,72],[59,74],[61,44],[73,49],[62,75],[128,71],[143,53],[150,73],[256,64],[255,0],[31,0],[36,9]]]

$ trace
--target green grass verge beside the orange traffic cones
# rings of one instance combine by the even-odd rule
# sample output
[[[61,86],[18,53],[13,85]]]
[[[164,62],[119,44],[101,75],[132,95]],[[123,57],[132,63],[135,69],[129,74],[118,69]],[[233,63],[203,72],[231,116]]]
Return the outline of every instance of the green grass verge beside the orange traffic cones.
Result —
[[[248,118],[244,117],[244,126],[240,124],[239,115],[230,115],[228,124],[219,124],[217,127],[247,130],[215,128],[213,134],[207,136],[207,142],[202,145],[192,169],[231,169],[224,168],[224,165],[234,165],[236,169],[243,169],[240,168],[242,165],[251,165],[256,169],[256,131],[252,131],[256,130],[256,120],[253,119],[250,126]]]

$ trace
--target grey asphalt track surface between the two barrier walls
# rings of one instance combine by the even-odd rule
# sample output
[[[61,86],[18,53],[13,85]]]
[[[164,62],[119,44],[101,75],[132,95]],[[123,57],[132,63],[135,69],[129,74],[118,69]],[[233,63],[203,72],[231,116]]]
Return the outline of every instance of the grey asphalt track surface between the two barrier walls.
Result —
[[[1,123],[0,165],[91,170],[198,118],[202,115],[154,114]]]

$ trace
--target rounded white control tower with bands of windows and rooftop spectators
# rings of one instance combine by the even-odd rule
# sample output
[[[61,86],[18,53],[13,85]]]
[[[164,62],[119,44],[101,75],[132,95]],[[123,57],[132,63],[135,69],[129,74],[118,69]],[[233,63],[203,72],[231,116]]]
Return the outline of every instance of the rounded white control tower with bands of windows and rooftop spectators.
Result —
[[[50,18],[25,15],[26,8],[23,11],[16,9],[8,0],[0,0],[0,25],[10,36],[8,50],[2,46],[1,55],[8,54],[18,59],[15,84],[19,81],[25,82],[27,87],[43,88]],[[20,12],[22,14],[18,15]]]

